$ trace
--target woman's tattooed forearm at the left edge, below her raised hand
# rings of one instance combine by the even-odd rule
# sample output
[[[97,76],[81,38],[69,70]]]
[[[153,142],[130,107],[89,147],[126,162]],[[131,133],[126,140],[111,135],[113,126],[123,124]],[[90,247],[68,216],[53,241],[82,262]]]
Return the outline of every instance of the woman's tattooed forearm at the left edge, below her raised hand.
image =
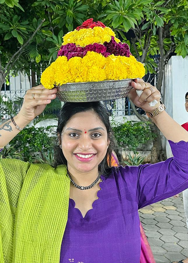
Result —
[[[19,114],[14,117],[14,121],[21,128],[29,124],[29,122],[24,121]],[[3,124],[0,125],[0,147],[6,146],[19,132],[11,119],[3,122]]]

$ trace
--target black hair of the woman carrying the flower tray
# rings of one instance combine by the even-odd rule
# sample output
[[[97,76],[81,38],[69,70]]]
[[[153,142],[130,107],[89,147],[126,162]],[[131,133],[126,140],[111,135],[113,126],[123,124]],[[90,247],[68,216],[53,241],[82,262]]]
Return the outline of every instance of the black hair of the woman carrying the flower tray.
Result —
[[[59,142],[61,141],[62,130],[68,120],[79,112],[92,112],[103,122],[106,127],[108,139],[110,140],[109,147],[107,149],[105,158],[99,164],[99,171],[105,176],[108,177],[112,172],[111,167],[111,158],[112,158],[112,150],[117,150],[118,145],[117,141],[113,135],[112,127],[109,120],[109,113],[102,101],[94,101],[94,102],[65,102],[63,107],[59,112],[58,125],[57,125],[57,141],[54,146],[54,165],[53,167],[57,167],[58,165],[66,165],[67,160],[64,157],[62,149],[59,147]],[[58,137],[59,133],[59,137]],[[109,156],[109,163],[108,163]],[[116,169],[118,169],[116,167]]]

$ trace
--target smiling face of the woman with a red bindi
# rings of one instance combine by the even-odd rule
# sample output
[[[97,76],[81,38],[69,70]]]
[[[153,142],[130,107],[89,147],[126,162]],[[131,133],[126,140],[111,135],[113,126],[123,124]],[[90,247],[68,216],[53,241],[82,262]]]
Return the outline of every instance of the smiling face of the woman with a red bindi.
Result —
[[[105,125],[92,112],[73,115],[62,131],[61,140],[68,169],[79,172],[89,172],[98,167],[110,143]]]

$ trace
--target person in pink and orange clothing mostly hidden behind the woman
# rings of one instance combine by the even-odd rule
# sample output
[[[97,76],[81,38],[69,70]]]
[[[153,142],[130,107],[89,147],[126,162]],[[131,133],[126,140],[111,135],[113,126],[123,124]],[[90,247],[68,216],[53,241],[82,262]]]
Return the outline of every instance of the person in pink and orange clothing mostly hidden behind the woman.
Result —
[[[113,150],[111,165],[112,166],[123,165],[122,160],[123,158],[119,148],[116,148],[115,151]],[[109,158],[108,158],[108,162],[109,162]],[[140,263],[156,263],[141,222],[140,222],[140,239],[141,239]]]

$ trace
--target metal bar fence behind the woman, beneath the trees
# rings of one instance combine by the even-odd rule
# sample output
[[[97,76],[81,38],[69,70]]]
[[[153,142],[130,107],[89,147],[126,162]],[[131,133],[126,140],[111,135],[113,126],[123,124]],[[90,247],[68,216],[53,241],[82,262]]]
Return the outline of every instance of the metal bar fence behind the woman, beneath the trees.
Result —
[[[159,58],[160,55],[150,56],[154,59],[155,63],[159,65]],[[155,68],[157,72],[157,68]],[[31,73],[31,72],[30,72]],[[37,83],[37,75],[35,75],[35,80]],[[144,77],[145,82],[150,82],[153,86],[156,86],[157,83],[157,75],[148,73]],[[9,83],[4,83],[1,89],[1,95],[3,96],[3,100],[7,100],[9,97],[12,101],[17,100],[19,97],[23,98],[27,89],[31,88],[31,74],[30,76],[27,75],[20,75],[9,78]],[[110,113],[110,116],[127,116],[127,115],[134,115],[134,112],[131,108],[130,101],[128,98],[121,98],[117,100],[109,100],[104,101],[106,107]],[[145,112],[141,108],[136,108],[138,113],[144,115]]]

